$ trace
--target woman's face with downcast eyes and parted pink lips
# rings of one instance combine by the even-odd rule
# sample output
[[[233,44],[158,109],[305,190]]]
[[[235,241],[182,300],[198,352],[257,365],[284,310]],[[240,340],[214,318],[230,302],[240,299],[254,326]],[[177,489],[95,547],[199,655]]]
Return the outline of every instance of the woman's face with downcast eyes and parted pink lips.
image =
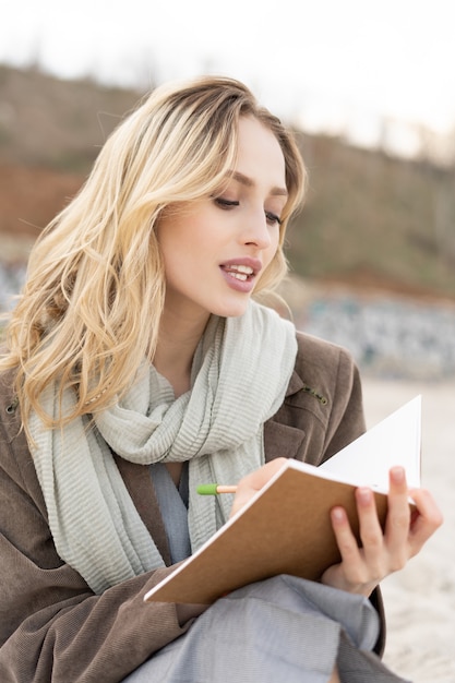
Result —
[[[286,200],[276,137],[256,119],[241,118],[228,183],[213,196],[171,206],[159,221],[165,314],[241,315],[278,248]]]

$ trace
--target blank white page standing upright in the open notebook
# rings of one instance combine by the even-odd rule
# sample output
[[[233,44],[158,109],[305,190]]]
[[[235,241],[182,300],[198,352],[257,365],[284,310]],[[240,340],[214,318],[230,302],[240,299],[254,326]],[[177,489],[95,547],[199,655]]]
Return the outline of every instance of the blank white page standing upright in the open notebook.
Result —
[[[388,470],[406,469],[409,487],[420,487],[421,396],[382,420],[321,465],[320,469],[360,486],[388,491]]]

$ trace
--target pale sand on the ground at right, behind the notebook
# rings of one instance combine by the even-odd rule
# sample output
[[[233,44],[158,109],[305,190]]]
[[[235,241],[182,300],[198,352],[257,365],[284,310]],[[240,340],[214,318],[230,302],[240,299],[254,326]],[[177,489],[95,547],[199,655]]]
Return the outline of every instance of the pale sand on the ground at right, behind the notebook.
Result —
[[[455,380],[420,383],[363,378],[368,427],[422,395],[422,486],[444,524],[406,568],[383,583],[384,661],[415,683],[455,682]]]

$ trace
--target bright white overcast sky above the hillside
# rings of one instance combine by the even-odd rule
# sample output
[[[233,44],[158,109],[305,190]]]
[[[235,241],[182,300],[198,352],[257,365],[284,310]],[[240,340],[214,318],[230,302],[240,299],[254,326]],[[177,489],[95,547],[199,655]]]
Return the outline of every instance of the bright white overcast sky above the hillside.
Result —
[[[420,127],[455,136],[455,0],[0,0],[0,62],[141,89],[223,73],[312,132],[404,153]]]

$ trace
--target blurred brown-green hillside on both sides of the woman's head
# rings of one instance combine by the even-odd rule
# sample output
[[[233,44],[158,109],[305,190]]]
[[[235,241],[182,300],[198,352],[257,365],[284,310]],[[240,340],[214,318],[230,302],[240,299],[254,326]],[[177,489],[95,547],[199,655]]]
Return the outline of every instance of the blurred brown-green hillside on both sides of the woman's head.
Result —
[[[141,96],[0,67],[0,259],[25,257]],[[455,169],[298,140],[310,181],[288,238],[295,274],[455,300]]]

